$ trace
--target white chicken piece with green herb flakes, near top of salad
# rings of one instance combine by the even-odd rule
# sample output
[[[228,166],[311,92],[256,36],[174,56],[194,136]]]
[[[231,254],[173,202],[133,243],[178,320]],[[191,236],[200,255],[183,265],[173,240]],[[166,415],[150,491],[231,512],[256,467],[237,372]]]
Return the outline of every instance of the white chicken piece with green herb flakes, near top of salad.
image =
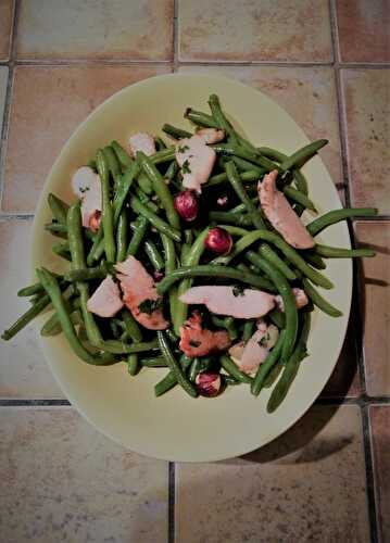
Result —
[[[176,143],[176,161],[181,167],[183,186],[200,194],[215,162],[215,151],[201,136],[180,139]]]

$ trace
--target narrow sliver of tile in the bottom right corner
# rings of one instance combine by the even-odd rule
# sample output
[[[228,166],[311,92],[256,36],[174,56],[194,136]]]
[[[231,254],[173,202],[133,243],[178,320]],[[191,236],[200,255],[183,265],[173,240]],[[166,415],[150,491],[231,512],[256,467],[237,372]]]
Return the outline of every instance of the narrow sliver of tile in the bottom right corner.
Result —
[[[375,491],[379,536],[390,540],[390,405],[372,405],[369,421],[374,454]]]

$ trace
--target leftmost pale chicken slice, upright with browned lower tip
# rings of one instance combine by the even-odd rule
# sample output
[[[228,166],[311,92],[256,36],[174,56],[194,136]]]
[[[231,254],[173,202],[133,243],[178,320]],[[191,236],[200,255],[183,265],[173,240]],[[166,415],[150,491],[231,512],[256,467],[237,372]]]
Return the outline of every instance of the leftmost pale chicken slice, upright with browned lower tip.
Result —
[[[72,178],[72,190],[81,200],[83,226],[98,231],[102,211],[100,177],[89,166],[83,166]]]

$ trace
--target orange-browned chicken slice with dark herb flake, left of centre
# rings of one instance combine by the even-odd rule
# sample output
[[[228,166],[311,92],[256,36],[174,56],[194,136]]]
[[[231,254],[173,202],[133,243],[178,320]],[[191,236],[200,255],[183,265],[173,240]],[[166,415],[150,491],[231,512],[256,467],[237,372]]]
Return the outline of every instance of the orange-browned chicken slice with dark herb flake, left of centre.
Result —
[[[169,323],[165,320],[161,307],[162,296],[158,294],[152,276],[134,256],[115,264],[117,279],[123,290],[126,307],[134,318],[149,330],[165,330]]]

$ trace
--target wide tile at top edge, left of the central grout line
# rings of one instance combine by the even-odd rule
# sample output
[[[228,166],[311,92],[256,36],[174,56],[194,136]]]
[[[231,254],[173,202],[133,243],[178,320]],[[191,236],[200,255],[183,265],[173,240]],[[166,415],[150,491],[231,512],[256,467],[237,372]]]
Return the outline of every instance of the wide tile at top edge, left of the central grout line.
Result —
[[[24,0],[20,59],[173,58],[173,0]]]

